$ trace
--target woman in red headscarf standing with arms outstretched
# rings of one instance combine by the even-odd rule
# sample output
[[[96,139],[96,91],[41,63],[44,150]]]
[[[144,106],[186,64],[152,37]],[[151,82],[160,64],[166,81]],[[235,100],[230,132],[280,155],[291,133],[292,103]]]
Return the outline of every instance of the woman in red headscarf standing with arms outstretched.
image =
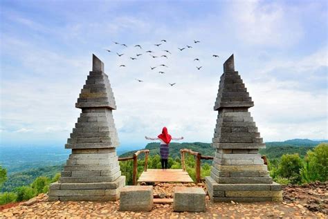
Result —
[[[167,169],[167,158],[169,158],[169,144],[171,140],[183,140],[183,137],[172,137],[167,133],[167,128],[163,127],[162,133],[158,135],[157,137],[147,137],[145,136],[147,140],[160,140],[161,147],[159,149],[159,152],[161,154],[161,164],[162,169]]]

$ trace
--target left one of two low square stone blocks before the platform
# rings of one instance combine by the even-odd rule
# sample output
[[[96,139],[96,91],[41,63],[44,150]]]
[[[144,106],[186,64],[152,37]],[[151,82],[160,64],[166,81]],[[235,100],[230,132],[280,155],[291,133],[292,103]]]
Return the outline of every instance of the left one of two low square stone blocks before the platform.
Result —
[[[151,211],[152,186],[127,186],[120,191],[120,211]]]

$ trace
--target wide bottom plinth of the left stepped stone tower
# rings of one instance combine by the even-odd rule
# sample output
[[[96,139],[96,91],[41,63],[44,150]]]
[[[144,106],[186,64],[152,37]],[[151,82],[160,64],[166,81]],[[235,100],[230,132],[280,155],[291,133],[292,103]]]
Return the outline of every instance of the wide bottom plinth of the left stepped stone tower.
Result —
[[[116,201],[125,186],[125,176],[113,182],[61,183],[50,185],[49,201]]]

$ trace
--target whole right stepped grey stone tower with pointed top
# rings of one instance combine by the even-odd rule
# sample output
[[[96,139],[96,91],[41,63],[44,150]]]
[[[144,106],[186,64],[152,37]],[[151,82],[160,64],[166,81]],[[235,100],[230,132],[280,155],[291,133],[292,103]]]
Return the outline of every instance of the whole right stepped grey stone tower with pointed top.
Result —
[[[224,63],[215,102],[216,149],[206,187],[213,202],[282,201],[280,184],[272,181],[259,154],[265,148],[248,108],[254,106],[245,84],[235,71],[234,57]]]

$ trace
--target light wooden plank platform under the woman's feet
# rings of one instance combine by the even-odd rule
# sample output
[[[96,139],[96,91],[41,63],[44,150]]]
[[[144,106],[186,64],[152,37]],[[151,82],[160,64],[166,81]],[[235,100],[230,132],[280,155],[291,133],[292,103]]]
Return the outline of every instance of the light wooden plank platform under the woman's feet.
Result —
[[[148,169],[143,171],[138,182],[194,182],[182,169]]]

